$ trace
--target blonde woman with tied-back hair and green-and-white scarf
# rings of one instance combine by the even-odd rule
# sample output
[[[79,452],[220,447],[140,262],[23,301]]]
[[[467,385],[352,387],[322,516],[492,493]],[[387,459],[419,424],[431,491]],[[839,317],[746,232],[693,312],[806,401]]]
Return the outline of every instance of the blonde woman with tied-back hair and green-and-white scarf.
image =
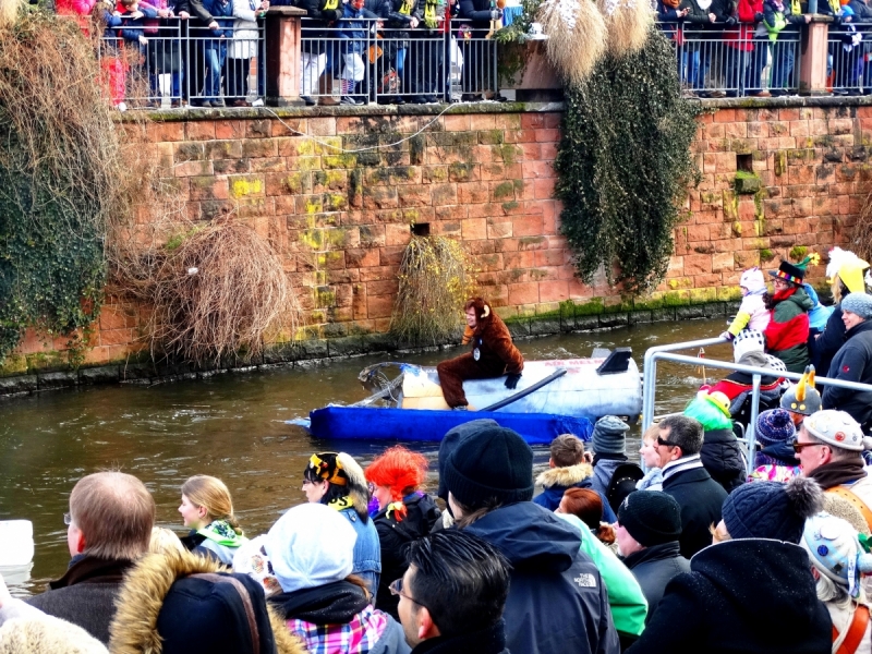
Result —
[[[179,507],[184,525],[191,533],[182,540],[194,554],[211,557],[227,566],[247,538],[233,514],[230,491],[221,480],[198,474],[182,484]]]

